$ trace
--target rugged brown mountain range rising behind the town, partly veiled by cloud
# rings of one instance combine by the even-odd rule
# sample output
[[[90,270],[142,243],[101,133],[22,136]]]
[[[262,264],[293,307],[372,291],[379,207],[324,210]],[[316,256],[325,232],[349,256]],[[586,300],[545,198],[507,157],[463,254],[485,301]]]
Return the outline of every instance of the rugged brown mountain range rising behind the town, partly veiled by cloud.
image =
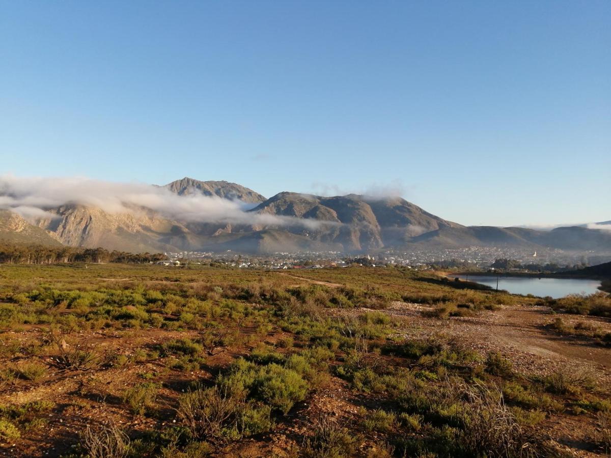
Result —
[[[44,208],[42,216],[27,220],[11,211],[0,211],[0,240],[130,252],[364,252],[385,247],[473,245],[611,251],[611,230],[599,228],[609,222],[599,223],[594,229],[574,226],[551,231],[466,227],[400,197],[321,197],[280,192],[265,198],[240,184],[192,178],[173,181],[163,188],[186,199],[184,202],[199,195],[230,201],[240,206],[242,216],[238,220],[169,216],[134,203],[125,203],[122,211],[111,212],[78,203],[75,196],[74,201]]]

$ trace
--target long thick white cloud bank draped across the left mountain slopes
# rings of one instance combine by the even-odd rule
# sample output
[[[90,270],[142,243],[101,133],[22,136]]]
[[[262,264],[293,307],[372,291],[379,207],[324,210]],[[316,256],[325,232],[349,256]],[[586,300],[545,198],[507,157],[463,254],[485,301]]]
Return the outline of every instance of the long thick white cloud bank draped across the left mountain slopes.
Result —
[[[112,214],[152,209],[168,219],[188,222],[307,228],[320,225],[315,220],[248,212],[238,200],[202,194],[179,196],[164,187],[145,183],[0,175],[0,208],[10,209],[27,219],[54,217],[53,209],[75,204],[95,206]]]

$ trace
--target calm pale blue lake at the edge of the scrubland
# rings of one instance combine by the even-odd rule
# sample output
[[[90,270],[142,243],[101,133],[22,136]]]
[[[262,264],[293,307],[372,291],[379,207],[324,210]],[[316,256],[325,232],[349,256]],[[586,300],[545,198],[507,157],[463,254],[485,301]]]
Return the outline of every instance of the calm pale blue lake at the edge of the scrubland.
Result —
[[[465,275],[448,275],[461,280]],[[497,277],[486,275],[469,275],[469,282],[481,283],[496,288]],[[499,277],[499,289],[506,289],[514,294],[534,294],[535,296],[551,296],[554,299],[568,294],[598,293],[601,282],[584,280],[583,278],[532,278],[532,277]]]

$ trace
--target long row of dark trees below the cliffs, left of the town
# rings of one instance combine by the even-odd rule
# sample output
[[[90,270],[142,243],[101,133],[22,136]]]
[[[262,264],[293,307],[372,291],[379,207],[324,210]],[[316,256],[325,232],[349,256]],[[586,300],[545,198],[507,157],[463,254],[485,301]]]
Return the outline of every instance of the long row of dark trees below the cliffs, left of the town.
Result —
[[[154,263],[166,259],[163,253],[127,253],[103,248],[46,247],[0,242],[0,263]]]

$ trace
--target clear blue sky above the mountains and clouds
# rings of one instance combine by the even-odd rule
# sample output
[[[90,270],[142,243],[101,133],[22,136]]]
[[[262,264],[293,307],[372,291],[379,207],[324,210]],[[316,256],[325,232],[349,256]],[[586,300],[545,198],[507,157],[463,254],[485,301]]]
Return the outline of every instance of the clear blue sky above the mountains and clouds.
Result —
[[[611,219],[610,1],[1,1],[0,173]]]

